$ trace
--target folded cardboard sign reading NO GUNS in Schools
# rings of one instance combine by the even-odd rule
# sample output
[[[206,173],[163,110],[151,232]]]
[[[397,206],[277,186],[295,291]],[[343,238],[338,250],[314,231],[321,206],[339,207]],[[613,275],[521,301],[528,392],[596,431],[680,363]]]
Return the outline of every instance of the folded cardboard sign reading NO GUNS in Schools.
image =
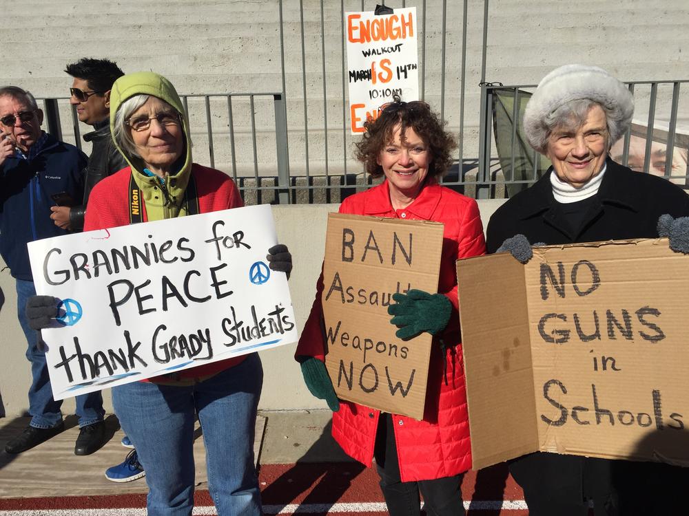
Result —
[[[473,468],[689,460],[689,256],[667,239],[533,252],[457,262]]]

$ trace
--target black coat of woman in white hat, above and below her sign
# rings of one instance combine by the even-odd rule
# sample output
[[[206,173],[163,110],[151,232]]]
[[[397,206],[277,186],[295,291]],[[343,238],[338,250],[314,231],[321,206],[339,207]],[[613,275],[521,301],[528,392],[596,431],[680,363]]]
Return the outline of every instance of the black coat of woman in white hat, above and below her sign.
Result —
[[[574,234],[553,197],[551,173],[552,168],[531,188],[512,197],[493,214],[486,230],[489,253],[495,252],[505,239],[519,233],[532,244],[654,238],[658,236],[657,222],[661,215],[689,215],[689,195],[678,186],[655,175],[631,171],[608,159],[596,199],[588,208],[581,229]],[[631,481],[643,483],[663,478],[662,483],[672,497],[677,495],[672,482],[686,479],[689,471],[679,470],[664,464],[556,453],[532,453],[510,464],[510,471],[524,489],[530,514],[534,516],[586,515],[588,508],[584,496],[597,502],[596,515],[635,515],[637,512],[629,507],[640,508],[643,502],[639,493],[648,488],[638,488]],[[612,492],[617,492],[619,497],[617,512],[600,507],[609,502]],[[657,504],[657,501],[651,503]]]

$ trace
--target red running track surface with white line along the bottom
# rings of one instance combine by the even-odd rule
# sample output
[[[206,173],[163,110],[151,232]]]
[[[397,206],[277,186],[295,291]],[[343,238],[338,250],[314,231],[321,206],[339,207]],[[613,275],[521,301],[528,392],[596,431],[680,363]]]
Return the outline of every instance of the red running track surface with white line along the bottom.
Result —
[[[355,463],[267,464],[261,466],[259,481],[263,504],[268,514],[310,513],[312,515],[378,515],[382,495],[378,475]],[[526,510],[500,509],[504,501],[522,501],[522,491],[508,477],[504,465],[477,473],[470,471],[462,482],[465,500],[471,500],[469,516],[523,516]],[[486,504],[485,502],[492,502]],[[522,502],[523,503],[523,502]],[[335,504],[335,505],[333,505]],[[208,491],[196,492],[194,515],[215,514]],[[514,504],[511,504],[514,505]],[[33,511],[32,515],[50,516],[54,510],[92,509],[94,515],[127,514],[127,508],[145,507],[145,495],[15,498],[0,500],[0,510]],[[198,512],[198,508],[202,512]],[[372,510],[375,509],[375,510]],[[1,516],[1,514],[0,514]]]

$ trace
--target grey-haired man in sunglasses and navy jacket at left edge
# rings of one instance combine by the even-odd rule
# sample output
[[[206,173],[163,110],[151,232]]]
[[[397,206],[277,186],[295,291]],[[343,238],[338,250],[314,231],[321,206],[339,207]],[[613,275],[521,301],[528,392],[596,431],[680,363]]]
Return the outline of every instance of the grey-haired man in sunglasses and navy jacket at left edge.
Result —
[[[29,426],[5,445],[7,453],[21,453],[50,439],[64,428],[62,401],[52,397],[45,350],[25,314],[36,294],[26,244],[66,235],[53,224],[51,206],[70,204],[83,195],[86,156],[76,147],[41,131],[43,111],[29,92],[0,87],[0,254],[17,284],[17,312],[31,363]],[[88,455],[103,440],[103,398],[100,392],[76,397],[79,438],[74,453]]]

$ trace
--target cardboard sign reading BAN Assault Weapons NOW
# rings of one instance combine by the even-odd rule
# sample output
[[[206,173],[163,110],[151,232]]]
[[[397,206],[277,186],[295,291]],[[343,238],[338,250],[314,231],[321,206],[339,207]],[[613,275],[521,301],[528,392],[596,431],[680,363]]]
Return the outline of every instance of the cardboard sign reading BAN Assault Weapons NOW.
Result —
[[[395,336],[395,292],[438,291],[443,225],[328,215],[322,303],[327,366],[339,398],[422,419],[431,336]]]

